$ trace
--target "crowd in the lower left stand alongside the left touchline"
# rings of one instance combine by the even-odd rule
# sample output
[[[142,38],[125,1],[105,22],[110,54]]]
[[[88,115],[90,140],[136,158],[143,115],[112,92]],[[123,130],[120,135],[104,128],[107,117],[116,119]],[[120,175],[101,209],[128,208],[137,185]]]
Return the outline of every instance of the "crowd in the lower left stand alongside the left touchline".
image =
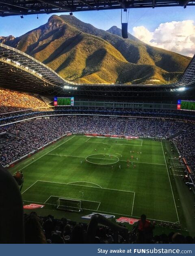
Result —
[[[68,124],[68,123],[67,123]],[[0,143],[0,164],[6,165],[22,156],[37,150],[43,145],[71,132],[70,126],[64,124],[63,119],[33,119],[0,128],[1,132],[8,132],[11,139]]]

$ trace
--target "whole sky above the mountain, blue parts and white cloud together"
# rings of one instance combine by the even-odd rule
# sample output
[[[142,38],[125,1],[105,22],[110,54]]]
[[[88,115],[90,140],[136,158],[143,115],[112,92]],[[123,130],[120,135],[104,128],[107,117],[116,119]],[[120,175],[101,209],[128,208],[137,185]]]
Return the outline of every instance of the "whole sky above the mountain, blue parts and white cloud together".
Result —
[[[126,22],[126,13],[122,14],[122,21]],[[45,24],[51,15],[40,14],[39,19],[37,15],[24,15],[24,19],[20,16],[0,17],[0,36],[19,37]],[[121,28],[121,10],[83,11],[73,15],[96,28]],[[195,54],[195,7],[130,9],[128,32],[151,46],[192,57]]]

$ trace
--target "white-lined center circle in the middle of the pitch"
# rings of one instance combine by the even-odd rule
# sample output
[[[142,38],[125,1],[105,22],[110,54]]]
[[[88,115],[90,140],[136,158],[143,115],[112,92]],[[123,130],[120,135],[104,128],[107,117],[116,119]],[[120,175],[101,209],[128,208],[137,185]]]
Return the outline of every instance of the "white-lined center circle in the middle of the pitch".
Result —
[[[111,154],[92,154],[87,156],[86,161],[95,165],[113,165],[119,161],[117,156]]]

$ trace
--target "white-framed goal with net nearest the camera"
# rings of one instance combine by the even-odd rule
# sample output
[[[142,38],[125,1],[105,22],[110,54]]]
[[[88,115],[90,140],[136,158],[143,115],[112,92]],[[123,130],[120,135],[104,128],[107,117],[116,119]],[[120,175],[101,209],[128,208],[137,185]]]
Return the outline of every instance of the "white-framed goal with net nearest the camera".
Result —
[[[69,210],[79,212],[81,210],[81,201],[67,198],[58,198],[57,206],[58,210]]]

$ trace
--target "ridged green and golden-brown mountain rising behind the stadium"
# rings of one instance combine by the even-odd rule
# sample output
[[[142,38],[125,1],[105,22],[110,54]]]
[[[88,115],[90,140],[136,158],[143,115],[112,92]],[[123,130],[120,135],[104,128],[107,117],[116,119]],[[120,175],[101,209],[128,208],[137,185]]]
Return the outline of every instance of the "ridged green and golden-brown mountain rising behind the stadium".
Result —
[[[67,80],[83,83],[176,82],[191,58],[155,48],[121,30],[95,28],[73,15],[52,15],[39,28],[17,38],[4,38],[51,67]]]

